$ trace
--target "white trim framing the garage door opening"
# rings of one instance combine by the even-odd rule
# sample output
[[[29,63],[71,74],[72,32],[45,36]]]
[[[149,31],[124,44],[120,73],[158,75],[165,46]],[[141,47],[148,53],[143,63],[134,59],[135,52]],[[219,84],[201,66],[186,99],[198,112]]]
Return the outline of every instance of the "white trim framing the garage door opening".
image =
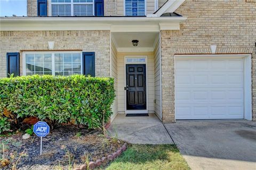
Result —
[[[252,55],[251,54],[198,54],[198,55],[174,55],[174,84],[176,79],[175,61],[176,59],[209,59],[209,58],[224,58],[237,59],[242,58],[244,61],[244,119],[252,120]],[[174,90],[174,96],[176,91]],[[174,103],[174,112],[176,117],[176,107]],[[176,120],[176,118],[175,118]]]

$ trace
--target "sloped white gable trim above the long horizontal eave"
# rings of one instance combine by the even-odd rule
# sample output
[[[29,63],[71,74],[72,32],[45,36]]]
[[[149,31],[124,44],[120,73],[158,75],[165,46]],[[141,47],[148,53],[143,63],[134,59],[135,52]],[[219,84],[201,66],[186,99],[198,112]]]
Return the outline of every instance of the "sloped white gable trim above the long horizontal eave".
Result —
[[[156,17],[160,17],[164,13],[173,13],[183,4],[185,0],[169,0],[156,13]]]

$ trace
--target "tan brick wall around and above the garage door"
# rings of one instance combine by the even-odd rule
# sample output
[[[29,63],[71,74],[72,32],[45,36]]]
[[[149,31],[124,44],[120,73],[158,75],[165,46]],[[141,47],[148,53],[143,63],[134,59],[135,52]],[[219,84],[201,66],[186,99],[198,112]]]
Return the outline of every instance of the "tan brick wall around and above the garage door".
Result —
[[[252,54],[253,120],[256,121],[255,0],[186,0],[175,12],[188,17],[180,30],[161,31],[163,122],[174,122],[174,54]]]

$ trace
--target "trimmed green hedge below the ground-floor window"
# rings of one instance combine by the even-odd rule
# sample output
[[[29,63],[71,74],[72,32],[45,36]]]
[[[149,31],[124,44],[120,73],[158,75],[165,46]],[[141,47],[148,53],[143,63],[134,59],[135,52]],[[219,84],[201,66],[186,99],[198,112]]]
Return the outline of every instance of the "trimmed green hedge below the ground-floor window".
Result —
[[[113,78],[34,75],[0,79],[2,119],[7,108],[17,118],[35,116],[50,124],[75,120],[96,128],[111,116],[114,99]]]

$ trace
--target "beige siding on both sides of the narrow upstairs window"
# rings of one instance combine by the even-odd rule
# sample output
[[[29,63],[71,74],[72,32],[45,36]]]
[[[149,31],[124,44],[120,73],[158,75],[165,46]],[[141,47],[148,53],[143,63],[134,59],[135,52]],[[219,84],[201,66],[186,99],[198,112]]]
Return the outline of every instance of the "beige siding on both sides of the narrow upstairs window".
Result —
[[[124,0],[116,0],[117,15],[124,15]],[[152,14],[155,12],[155,0],[147,0],[147,13]]]

